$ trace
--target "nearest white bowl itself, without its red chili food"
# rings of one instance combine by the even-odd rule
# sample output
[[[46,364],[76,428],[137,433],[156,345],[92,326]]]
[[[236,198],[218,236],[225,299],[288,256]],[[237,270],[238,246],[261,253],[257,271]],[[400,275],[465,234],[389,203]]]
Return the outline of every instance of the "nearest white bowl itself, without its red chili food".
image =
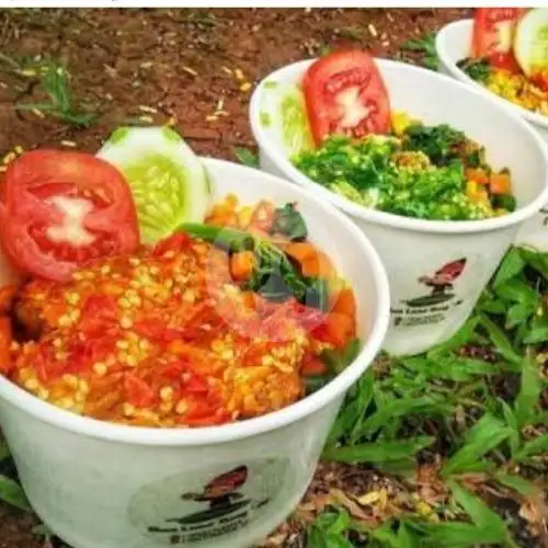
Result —
[[[327,387],[262,418],[208,429],[153,430],[100,422],[45,403],[0,376],[0,423],[36,513],[76,548],[242,548],[273,530],[312,477],[346,390],[378,353],[389,321],[388,281],[367,238],[310,192],[242,165],[204,160],[215,197],[297,202],[313,241],[355,288],[355,362]],[[207,511],[201,493],[219,475],[248,468],[231,512]],[[246,502],[247,501],[247,502]],[[229,501],[231,502],[231,501]],[[221,509],[222,510],[222,509]],[[169,522],[194,516],[187,523]],[[163,532],[149,532],[158,527]],[[169,529],[173,530],[169,530]],[[199,539],[199,540],[198,540]]]

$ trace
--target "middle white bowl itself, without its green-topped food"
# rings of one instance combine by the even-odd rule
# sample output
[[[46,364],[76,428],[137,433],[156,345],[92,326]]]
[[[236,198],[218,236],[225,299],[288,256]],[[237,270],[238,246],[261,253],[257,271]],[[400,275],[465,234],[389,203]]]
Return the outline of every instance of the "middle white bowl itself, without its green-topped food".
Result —
[[[407,111],[426,124],[450,124],[484,145],[492,165],[512,171],[518,207],[504,217],[479,221],[431,221],[368,209],[298,171],[277,133],[262,123],[264,83],[300,83],[311,62],[296,62],[273,72],[253,93],[250,122],[261,168],[313,189],[370,238],[390,281],[392,313],[385,349],[392,354],[423,352],[463,326],[522,224],[547,202],[548,147],[520,116],[480,90],[430,70],[377,59],[392,110]],[[441,269],[459,260],[466,260],[461,275],[434,294],[425,277],[438,276]]]

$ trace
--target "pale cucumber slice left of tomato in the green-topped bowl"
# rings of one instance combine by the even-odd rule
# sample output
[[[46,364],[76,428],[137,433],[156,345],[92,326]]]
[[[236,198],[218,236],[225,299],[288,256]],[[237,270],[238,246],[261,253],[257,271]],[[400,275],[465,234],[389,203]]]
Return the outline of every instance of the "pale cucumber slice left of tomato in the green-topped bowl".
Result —
[[[305,96],[297,85],[266,81],[263,83],[260,123],[288,157],[313,148]]]

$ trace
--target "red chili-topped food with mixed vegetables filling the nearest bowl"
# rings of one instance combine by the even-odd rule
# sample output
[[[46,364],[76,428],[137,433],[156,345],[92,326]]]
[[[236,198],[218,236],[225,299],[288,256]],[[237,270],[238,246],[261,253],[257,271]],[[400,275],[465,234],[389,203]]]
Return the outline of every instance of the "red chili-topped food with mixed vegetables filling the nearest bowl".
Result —
[[[56,158],[61,169],[64,153]],[[25,157],[7,176],[19,162]],[[36,207],[54,204],[46,239],[59,222],[56,196],[65,197],[71,230],[43,250],[56,261],[93,246],[75,235],[100,232],[70,217],[94,199],[93,189],[79,194],[78,171],[73,179],[76,187],[33,194]],[[84,416],[155,427],[258,416],[323,386],[359,347],[354,293],[309,240],[298,204],[240,205],[230,195],[158,241],[75,259],[68,277],[30,264],[18,263],[21,287],[0,294],[0,370]]]

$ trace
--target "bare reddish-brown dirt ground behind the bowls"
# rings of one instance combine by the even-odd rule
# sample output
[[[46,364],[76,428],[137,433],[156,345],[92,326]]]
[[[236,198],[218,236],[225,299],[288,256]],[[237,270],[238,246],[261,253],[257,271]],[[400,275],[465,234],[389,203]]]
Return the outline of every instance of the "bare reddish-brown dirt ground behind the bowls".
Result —
[[[15,146],[95,151],[117,126],[170,121],[198,152],[233,159],[253,147],[248,101],[271,70],[326,48],[393,55],[467,10],[0,10],[0,153]],[[36,110],[36,56],[61,60],[71,100],[99,113],[78,128]],[[249,85],[251,84],[251,85]],[[332,472],[330,472],[332,473]],[[322,481],[321,471],[317,481]],[[41,548],[36,521],[0,503],[0,548]],[[287,532],[286,532],[287,533]],[[299,546],[286,534],[281,546]]]

